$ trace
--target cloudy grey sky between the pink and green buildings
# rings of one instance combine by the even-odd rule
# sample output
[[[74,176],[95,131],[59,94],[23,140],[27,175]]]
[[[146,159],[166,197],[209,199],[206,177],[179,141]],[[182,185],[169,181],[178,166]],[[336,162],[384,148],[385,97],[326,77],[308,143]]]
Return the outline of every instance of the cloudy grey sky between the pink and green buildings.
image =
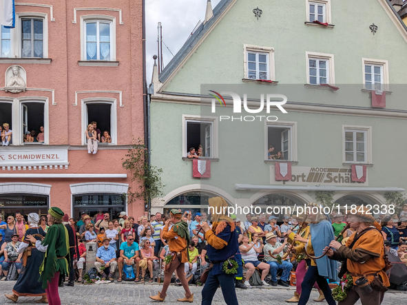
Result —
[[[220,0],[212,0],[215,8]],[[187,41],[198,21],[205,19],[207,0],[146,0],[146,56],[147,84],[151,82],[154,65],[153,55],[157,54],[157,25],[163,26],[163,42],[175,55]],[[163,44],[164,67],[172,55]]]

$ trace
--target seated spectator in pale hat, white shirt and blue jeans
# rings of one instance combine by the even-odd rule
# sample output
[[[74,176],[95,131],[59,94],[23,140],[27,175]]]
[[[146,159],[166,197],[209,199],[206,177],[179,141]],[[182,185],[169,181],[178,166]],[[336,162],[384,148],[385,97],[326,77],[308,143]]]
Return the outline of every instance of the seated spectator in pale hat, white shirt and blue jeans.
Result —
[[[291,262],[287,262],[286,260],[283,260],[280,264],[278,260],[269,255],[270,251],[274,256],[280,255],[280,257],[282,257],[284,255],[283,249],[286,244],[287,240],[284,240],[284,242],[281,244],[277,241],[276,235],[273,233],[267,233],[266,244],[264,245],[264,260],[270,265],[271,286],[277,286],[277,284],[284,287],[290,286],[287,283],[287,280],[289,279],[291,269],[293,269],[293,264],[291,264]],[[282,269],[283,272],[280,280],[277,282],[277,278],[275,276],[277,275],[277,271],[280,269]]]

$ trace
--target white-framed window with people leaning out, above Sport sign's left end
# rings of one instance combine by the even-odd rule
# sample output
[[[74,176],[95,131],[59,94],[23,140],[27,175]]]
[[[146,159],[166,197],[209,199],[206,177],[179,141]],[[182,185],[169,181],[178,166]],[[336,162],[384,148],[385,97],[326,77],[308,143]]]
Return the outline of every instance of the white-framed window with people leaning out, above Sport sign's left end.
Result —
[[[297,123],[266,123],[264,160],[297,160]]]

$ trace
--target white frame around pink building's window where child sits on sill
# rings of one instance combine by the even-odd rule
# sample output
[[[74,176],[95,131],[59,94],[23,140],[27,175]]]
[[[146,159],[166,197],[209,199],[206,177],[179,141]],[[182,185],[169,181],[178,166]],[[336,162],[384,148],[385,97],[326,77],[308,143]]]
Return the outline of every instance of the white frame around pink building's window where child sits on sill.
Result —
[[[94,97],[94,98],[83,98],[81,100],[81,114],[82,114],[82,132],[81,132],[81,143],[82,145],[87,145],[87,139],[85,132],[87,130],[87,105],[90,104],[110,104],[110,136],[112,137],[112,143],[109,145],[117,145],[117,100],[116,98],[106,98],[106,97]],[[103,131],[101,131],[103,132]],[[101,134],[101,137],[103,134]],[[105,144],[105,143],[103,143]]]

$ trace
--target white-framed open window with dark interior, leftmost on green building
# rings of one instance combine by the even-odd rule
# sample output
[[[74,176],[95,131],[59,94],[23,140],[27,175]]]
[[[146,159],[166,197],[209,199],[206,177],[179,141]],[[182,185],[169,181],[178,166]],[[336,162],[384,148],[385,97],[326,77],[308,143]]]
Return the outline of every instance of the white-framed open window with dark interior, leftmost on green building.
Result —
[[[182,116],[182,157],[186,158],[191,147],[198,154],[202,146],[202,156],[217,158],[218,156],[218,118],[211,116]]]

